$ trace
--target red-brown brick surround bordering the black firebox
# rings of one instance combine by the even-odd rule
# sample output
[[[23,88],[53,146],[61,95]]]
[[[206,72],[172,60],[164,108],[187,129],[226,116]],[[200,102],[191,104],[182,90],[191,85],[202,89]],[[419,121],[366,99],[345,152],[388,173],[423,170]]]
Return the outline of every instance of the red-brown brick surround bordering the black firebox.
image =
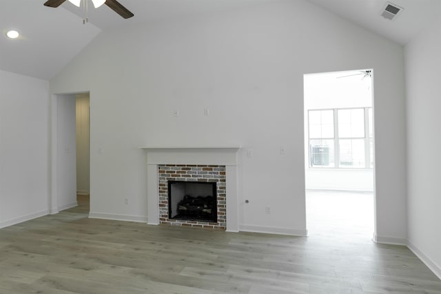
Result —
[[[168,218],[168,181],[216,182],[218,222]],[[227,221],[225,166],[203,164],[158,164],[159,223],[172,226],[225,230]]]

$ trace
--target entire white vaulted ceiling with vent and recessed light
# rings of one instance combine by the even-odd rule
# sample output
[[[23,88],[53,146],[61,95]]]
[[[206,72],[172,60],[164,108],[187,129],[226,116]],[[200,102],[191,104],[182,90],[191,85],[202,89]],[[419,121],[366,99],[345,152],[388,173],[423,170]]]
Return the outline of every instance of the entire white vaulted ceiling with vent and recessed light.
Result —
[[[68,1],[59,8],[48,8],[43,6],[45,0],[1,0],[0,69],[51,79],[101,30],[277,0],[119,1],[135,16],[123,19],[107,6],[94,9],[90,4],[89,23],[83,25],[83,10]],[[384,0],[307,1],[403,45],[441,14],[441,0],[393,0],[404,8],[393,21],[380,16]],[[19,30],[21,37],[6,38],[10,29]]]

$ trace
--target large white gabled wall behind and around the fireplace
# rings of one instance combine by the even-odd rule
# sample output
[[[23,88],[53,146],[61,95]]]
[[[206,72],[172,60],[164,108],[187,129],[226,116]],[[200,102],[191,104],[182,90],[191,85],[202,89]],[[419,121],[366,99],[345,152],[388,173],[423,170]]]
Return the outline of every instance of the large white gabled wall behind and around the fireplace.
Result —
[[[147,215],[139,146],[240,144],[240,226],[305,231],[303,75],[359,68],[376,72],[377,233],[400,240],[402,47],[307,1],[101,32],[51,91],[90,90],[91,212]]]

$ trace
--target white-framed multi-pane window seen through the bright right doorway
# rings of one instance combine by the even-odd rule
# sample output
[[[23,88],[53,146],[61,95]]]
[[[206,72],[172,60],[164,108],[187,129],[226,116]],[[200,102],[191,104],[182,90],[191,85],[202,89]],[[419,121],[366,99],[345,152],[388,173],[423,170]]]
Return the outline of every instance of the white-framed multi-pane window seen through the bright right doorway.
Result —
[[[373,168],[372,108],[309,110],[309,166]]]

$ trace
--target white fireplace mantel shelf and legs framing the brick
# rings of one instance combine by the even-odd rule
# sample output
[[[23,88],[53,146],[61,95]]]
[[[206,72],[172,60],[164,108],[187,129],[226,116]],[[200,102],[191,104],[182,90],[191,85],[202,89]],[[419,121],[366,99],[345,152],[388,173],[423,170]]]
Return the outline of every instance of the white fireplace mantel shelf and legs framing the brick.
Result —
[[[238,159],[241,146],[143,146],[147,154],[147,224],[159,224],[158,164],[225,166],[227,231],[238,232]]]

